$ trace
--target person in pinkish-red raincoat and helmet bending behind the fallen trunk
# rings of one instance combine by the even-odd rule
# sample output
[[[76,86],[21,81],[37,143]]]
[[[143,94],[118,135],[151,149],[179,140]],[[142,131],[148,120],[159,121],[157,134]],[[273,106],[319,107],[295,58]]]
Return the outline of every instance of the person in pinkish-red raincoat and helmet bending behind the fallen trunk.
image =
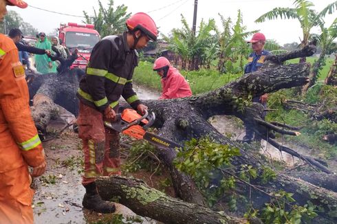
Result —
[[[183,98],[192,96],[190,85],[185,80],[180,72],[172,67],[170,62],[165,57],[160,57],[153,64],[153,71],[162,78],[162,99]]]

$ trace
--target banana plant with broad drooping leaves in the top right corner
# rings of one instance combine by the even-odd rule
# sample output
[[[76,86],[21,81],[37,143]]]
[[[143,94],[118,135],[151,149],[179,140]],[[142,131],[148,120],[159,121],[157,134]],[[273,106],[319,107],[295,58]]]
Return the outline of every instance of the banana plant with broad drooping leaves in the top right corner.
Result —
[[[323,17],[327,13],[331,14],[337,9],[337,1],[330,3],[319,13],[312,9],[314,4],[311,1],[295,0],[294,6],[294,8],[274,8],[260,16],[255,23],[262,23],[267,19],[277,19],[279,16],[281,19],[297,19],[300,22],[303,31],[300,45],[303,47],[309,43],[312,27],[323,25]],[[300,62],[305,62],[305,58],[301,58]]]

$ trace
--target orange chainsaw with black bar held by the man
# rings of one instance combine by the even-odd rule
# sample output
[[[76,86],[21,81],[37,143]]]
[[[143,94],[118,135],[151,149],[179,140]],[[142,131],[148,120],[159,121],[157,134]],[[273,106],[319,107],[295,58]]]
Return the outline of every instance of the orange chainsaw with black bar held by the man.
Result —
[[[154,146],[164,148],[182,148],[179,144],[172,142],[153,133],[149,133],[146,130],[155,122],[155,113],[149,115],[148,111],[145,111],[144,115],[140,115],[133,109],[124,109],[122,113],[116,114],[116,122],[107,122],[104,124],[108,128],[111,128],[124,135],[129,135],[135,139],[145,139]]]

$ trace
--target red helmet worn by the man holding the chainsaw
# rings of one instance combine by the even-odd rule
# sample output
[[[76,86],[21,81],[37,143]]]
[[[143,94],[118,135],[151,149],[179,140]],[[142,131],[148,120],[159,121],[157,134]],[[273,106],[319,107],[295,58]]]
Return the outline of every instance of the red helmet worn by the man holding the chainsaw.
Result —
[[[138,12],[127,19],[129,30],[142,30],[151,40],[157,41],[157,26],[155,21],[146,13]]]

